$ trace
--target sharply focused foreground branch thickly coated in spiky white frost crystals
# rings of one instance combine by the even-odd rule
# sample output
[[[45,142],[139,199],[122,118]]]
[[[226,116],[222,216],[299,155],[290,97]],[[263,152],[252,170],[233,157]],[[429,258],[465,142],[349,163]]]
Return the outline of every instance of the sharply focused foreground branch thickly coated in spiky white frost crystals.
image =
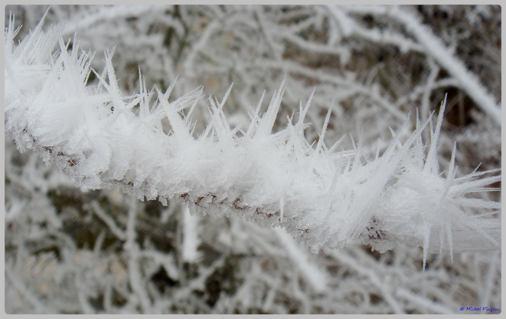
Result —
[[[281,226],[313,252],[357,238],[381,252],[401,242],[423,247],[426,255],[500,247],[500,221],[474,214],[500,204],[468,196],[496,190],[486,186],[500,176],[482,178],[487,171],[457,178],[454,154],[449,171],[440,174],[444,103],[435,127],[431,119],[417,121],[409,135],[406,120],[374,159],[363,156],[361,141],[351,150],[341,150],[340,141],[323,142],[331,110],[317,144],[306,140],[312,96],[285,129],[272,132],[284,82],[265,114],[262,96],[246,130],[231,128],[223,112],[232,86],[222,101],[209,98],[210,121],[196,136],[191,115],[201,88],[171,102],[174,83],[166,92],[141,84],[139,93],[124,96],[112,52],[96,74],[99,84],[87,85],[93,55],[80,51],[77,36],[69,47],[60,29],[44,32],[40,23],[16,45],[13,24],[5,32],[6,133],[19,150],[40,152],[82,190],[117,188],[141,199],[186,202],[191,214]],[[165,117],[169,134],[161,126]],[[428,145],[423,130],[430,130]],[[401,138],[406,132],[409,138]]]

